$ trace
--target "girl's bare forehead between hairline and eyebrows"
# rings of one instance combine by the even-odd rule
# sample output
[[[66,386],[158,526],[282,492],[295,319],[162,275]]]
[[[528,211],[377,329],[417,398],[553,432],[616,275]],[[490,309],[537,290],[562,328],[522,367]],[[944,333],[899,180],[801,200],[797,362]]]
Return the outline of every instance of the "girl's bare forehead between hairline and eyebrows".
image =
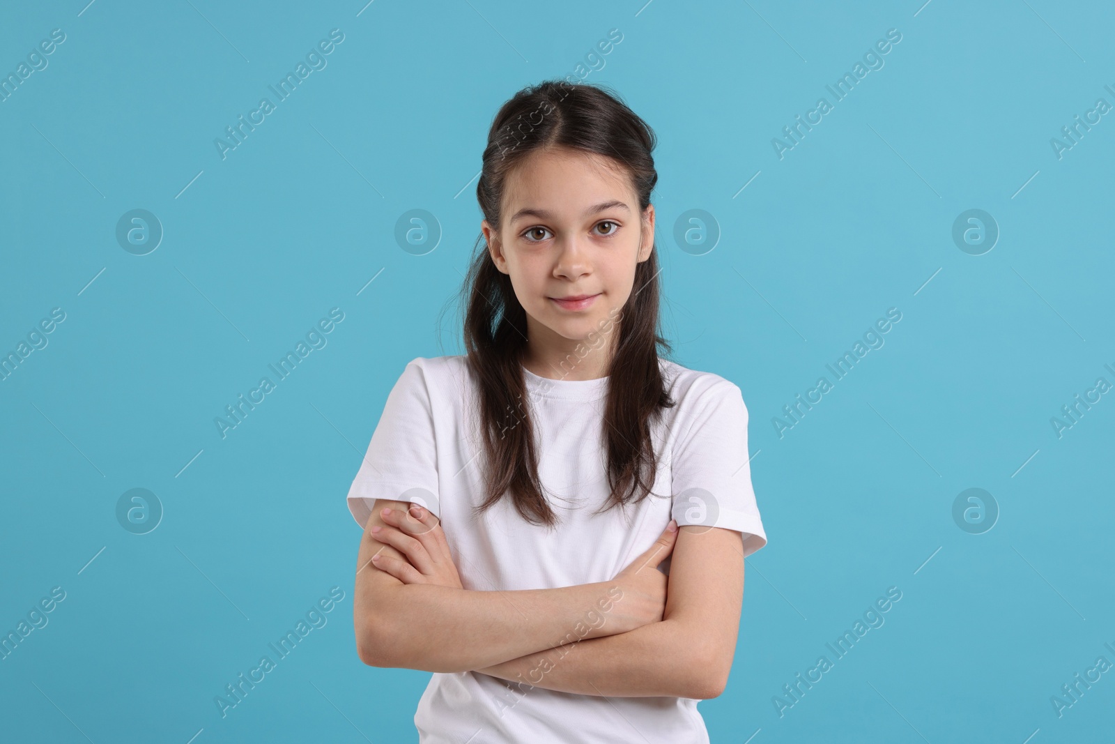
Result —
[[[615,160],[568,148],[536,149],[507,175],[503,213],[542,209],[580,215],[585,206],[611,200],[638,210],[631,178]]]

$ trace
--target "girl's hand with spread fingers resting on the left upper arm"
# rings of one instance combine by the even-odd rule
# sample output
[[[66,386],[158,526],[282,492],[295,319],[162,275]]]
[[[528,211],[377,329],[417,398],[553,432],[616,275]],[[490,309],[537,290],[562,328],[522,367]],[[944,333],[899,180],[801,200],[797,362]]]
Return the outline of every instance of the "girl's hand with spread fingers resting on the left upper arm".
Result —
[[[415,504],[406,512],[385,509],[380,515],[391,526],[371,528],[369,532],[372,539],[395,548],[407,560],[379,553],[372,558],[372,566],[403,583],[432,583],[464,589],[449,553],[449,544],[445,540],[445,531],[428,509]]]

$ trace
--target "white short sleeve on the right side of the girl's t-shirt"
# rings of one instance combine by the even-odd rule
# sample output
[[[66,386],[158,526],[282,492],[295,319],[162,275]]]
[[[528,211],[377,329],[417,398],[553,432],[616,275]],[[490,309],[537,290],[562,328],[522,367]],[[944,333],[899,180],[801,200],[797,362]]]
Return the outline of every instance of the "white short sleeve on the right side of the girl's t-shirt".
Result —
[[[726,379],[689,393],[696,398],[678,422],[685,428],[671,458],[673,519],[743,533],[746,558],[767,540],[752,489],[743,394]]]

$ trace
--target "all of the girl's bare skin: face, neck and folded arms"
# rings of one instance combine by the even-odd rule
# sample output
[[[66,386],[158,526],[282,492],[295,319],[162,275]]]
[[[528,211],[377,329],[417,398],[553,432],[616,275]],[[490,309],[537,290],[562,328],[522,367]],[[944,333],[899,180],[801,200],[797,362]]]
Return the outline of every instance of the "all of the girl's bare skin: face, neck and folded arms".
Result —
[[[500,230],[487,221],[482,230],[493,262],[510,274],[527,313],[524,366],[553,379],[603,377],[615,337],[609,312],[637,291],[636,265],[653,250],[653,206],[639,212],[630,178],[615,162],[550,149],[535,151],[511,174],[502,214]],[[599,297],[575,311],[550,299],[578,294]],[[588,345],[593,332],[605,342]],[[579,346],[583,359],[571,368],[568,360]],[[611,582],[533,593],[483,592],[462,588],[436,516],[405,502],[377,501],[358,560],[361,571],[369,569],[366,583],[378,589],[361,595],[358,576],[358,618],[398,600],[400,588],[427,593],[420,603],[396,601],[396,609],[379,610],[387,629],[379,631],[376,648],[404,644],[405,650],[391,658],[371,658],[370,651],[361,657],[380,661],[376,666],[433,668],[430,659],[446,656],[448,646],[456,654],[449,666],[527,686],[620,697],[716,697],[727,685],[738,635],[743,540],[734,530],[685,525],[675,531],[673,524],[671,520],[658,542]],[[372,561],[376,553],[381,558]],[[672,557],[669,577],[656,568],[667,555]],[[622,599],[604,625],[564,642],[576,618],[605,590],[619,590]],[[475,595],[502,595],[507,601],[481,608]],[[473,612],[488,615],[474,626]],[[547,626],[554,618],[556,625]],[[492,628],[494,632],[482,635]],[[424,634],[434,632],[460,632],[460,648],[423,645]]]

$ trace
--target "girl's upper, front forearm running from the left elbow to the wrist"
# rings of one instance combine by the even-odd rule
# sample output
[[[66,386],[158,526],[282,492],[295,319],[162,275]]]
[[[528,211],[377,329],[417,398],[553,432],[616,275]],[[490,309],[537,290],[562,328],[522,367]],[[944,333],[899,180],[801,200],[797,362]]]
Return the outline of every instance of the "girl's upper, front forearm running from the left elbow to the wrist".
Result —
[[[404,584],[370,564],[382,548],[365,535],[353,601],[360,655],[374,666],[467,671],[630,627],[613,609],[622,597],[615,582],[514,591]]]

